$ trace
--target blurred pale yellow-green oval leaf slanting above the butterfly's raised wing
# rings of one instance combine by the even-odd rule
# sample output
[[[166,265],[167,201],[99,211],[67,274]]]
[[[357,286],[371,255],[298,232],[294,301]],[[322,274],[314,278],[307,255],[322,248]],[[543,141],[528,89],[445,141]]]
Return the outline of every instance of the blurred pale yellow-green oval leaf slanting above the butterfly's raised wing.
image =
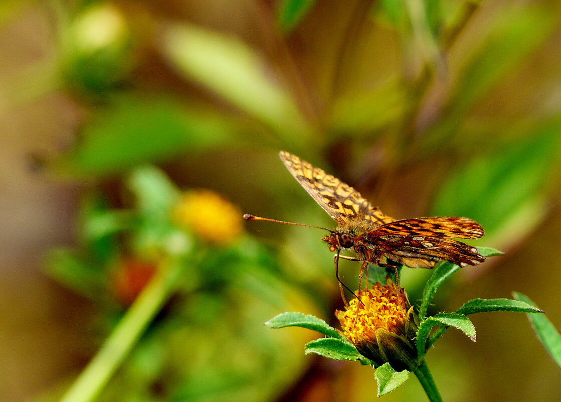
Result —
[[[291,96],[241,40],[184,24],[169,27],[164,48],[187,77],[272,127],[287,144],[304,144],[305,123]]]

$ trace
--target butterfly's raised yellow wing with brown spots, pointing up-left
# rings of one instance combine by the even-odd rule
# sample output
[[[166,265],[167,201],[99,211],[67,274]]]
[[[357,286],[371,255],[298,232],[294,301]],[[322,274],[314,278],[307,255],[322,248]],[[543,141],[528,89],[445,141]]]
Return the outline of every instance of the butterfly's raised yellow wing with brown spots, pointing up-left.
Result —
[[[351,186],[320,168],[288,152],[280,151],[279,157],[292,176],[339,225],[363,220],[372,221],[376,225],[395,221],[378,207],[373,207]]]

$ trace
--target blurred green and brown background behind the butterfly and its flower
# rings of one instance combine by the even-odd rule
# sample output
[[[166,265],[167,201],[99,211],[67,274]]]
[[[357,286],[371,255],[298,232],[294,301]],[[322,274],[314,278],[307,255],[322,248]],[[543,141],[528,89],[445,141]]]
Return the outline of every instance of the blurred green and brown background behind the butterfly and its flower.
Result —
[[[519,291],[561,327],[558,1],[5,0],[0,30],[0,400],[60,400],[99,350],[80,398],[374,400],[373,369],[263,326],[342,307],[323,232],[241,220],[335,226],[279,150],[485,227],[505,255],[434,312]],[[472,320],[429,352],[444,400],[559,400],[523,314]]]

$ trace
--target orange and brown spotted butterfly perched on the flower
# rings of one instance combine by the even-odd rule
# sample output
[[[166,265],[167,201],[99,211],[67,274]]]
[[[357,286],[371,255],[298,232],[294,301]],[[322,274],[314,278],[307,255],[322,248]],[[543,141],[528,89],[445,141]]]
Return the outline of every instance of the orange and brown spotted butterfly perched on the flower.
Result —
[[[330,232],[321,240],[329,245],[331,252],[337,252],[336,271],[339,258],[362,261],[360,278],[369,263],[380,267],[402,264],[410,268],[433,268],[440,261],[450,261],[462,267],[485,261],[475,247],[454,240],[477,239],[485,234],[481,225],[470,218],[396,220],[362,198],[351,186],[320,168],[288,152],[281,151],[279,156],[292,176],[339,225],[335,230],[319,228]],[[243,217],[246,220],[311,226],[250,214]],[[340,253],[344,249],[355,252],[356,258],[342,256]]]

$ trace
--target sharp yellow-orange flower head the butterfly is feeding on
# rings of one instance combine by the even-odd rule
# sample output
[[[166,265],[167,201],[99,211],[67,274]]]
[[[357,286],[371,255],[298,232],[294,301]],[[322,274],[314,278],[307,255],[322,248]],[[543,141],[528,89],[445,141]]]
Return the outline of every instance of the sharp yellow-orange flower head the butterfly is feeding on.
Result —
[[[414,369],[417,362],[417,318],[402,287],[389,278],[360,292],[345,311],[336,311],[343,335],[365,357],[389,362],[396,370]]]

